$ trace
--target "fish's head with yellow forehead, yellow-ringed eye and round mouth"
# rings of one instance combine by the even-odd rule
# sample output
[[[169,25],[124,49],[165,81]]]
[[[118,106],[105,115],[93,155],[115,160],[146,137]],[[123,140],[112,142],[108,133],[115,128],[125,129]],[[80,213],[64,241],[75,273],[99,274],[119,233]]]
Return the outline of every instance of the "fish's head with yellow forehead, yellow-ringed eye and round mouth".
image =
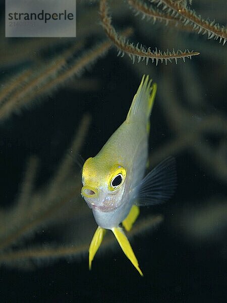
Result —
[[[111,212],[122,204],[126,175],[126,168],[118,163],[109,165],[97,156],[88,158],[82,170],[81,195],[90,208]]]

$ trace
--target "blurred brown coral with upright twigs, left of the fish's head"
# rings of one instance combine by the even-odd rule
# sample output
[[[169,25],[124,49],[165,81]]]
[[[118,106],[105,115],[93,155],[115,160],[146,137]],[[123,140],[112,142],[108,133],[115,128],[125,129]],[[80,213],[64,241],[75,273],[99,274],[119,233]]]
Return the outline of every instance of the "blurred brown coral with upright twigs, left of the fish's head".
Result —
[[[88,130],[89,121],[90,119],[88,116],[85,116],[82,119],[82,123],[73,140],[75,151],[79,150],[83,142]],[[21,190],[21,195],[17,201],[17,207],[15,210],[8,213],[7,220],[11,222],[11,225],[7,224],[9,230],[6,231],[3,229],[3,233],[0,228],[0,250],[6,249],[11,244],[18,242],[21,237],[36,230],[46,221],[50,220],[50,218],[52,218],[62,206],[67,204],[70,199],[80,196],[80,177],[73,188],[67,187],[64,189],[64,186],[66,186],[64,181],[67,177],[67,173],[69,176],[70,170],[68,169],[71,161],[72,160],[69,159],[69,157],[65,157],[55,178],[48,184],[47,190],[40,190],[33,194],[31,194],[31,189],[37,166],[37,159],[32,158],[29,161],[28,169],[25,174],[25,180],[27,180],[27,182],[24,183]],[[72,179],[72,176],[69,176],[69,178]],[[26,205],[29,205],[27,209],[25,209]]]

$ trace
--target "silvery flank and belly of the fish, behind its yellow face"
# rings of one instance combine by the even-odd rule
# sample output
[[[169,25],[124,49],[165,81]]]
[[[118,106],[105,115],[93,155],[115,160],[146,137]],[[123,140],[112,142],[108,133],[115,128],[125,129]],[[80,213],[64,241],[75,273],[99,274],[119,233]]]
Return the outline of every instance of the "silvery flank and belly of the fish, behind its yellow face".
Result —
[[[124,189],[119,188],[121,196],[117,192],[105,195],[102,200],[102,204],[106,205],[106,199],[112,198],[113,209],[106,212],[97,207],[92,208],[95,221],[102,228],[111,229],[118,226],[127,217],[135,202],[137,185],[143,179],[148,155],[148,135],[144,124],[124,122],[99,152],[107,153],[107,146],[111,150],[108,152],[109,158],[117,159],[118,164],[127,170]]]

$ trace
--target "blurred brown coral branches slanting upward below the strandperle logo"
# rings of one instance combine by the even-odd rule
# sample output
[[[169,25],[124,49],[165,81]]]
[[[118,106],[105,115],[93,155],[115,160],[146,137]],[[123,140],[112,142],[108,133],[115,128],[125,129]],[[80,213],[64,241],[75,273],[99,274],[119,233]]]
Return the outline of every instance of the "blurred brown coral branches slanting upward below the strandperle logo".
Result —
[[[132,29],[123,31],[124,35],[130,35]],[[42,68],[36,67],[36,73],[23,70],[9,83],[3,84],[0,90],[0,120],[6,119],[20,108],[34,103],[34,99],[50,94],[54,89],[64,85],[75,75],[81,75],[86,66],[91,65],[100,56],[103,56],[111,46],[111,42],[103,41],[86,51],[82,56],[68,64],[68,60],[74,53],[81,49],[83,44],[79,41],[66,49],[61,55],[53,58],[50,63],[43,64]]]

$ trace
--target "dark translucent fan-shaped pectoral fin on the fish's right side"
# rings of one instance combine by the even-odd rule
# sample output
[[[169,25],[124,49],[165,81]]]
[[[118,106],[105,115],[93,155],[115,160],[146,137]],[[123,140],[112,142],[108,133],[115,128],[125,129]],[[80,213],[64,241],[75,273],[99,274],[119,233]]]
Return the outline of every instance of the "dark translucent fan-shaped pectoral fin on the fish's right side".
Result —
[[[167,201],[177,187],[175,158],[169,157],[158,164],[142,180],[137,205],[155,205]]]

